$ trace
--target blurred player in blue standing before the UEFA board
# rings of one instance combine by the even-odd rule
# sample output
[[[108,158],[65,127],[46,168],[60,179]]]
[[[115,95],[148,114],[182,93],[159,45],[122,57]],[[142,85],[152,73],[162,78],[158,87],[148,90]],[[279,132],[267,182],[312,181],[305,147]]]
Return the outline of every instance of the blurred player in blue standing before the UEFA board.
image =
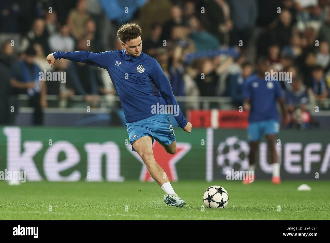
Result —
[[[270,63],[266,58],[260,58],[258,61],[257,74],[250,76],[244,83],[243,108],[249,111],[248,142],[250,143],[249,168],[254,176],[254,162],[256,152],[263,134],[266,135],[268,147],[270,149],[270,158],[273,167],[272,182],[281,183],[280,163],[277,160],[276,136],[279,133],[280,125],[278,122],[278,112],[276,108],[277,101],[280,103],[284,124],[288,123],[289,116],[286,112],[284,101],[281,94],[280,81],[266,81],[265,73],[270,71]],[[243,184],[253,182],[247,178]]]

